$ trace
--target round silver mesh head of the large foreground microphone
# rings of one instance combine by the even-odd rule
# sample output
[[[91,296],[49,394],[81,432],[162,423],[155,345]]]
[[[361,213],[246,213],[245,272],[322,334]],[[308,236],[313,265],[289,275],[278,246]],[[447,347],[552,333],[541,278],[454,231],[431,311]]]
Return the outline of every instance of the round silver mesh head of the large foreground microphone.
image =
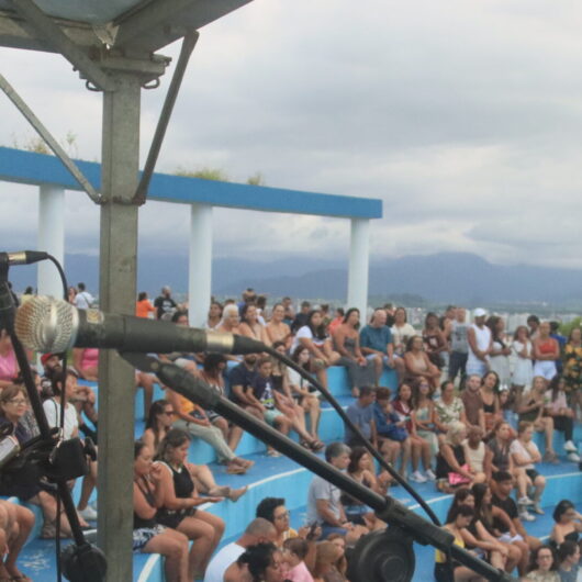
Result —
[[[29,349],[41,352],[66,351],[78,326],[77,310],[48,296],[35,296],[16,310],[14,331]]]

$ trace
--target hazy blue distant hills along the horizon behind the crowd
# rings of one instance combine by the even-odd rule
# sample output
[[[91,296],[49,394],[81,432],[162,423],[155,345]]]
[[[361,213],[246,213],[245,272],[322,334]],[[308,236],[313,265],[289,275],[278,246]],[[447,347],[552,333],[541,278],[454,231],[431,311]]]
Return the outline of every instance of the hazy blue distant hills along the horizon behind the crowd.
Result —
[[[85,281],[98,289],[98,259],[68,255],[66,272],[71,284]],[[10,271],[16,290],[34,284],[34,267]],[[148,256],[139,260],[138,290],[155,295],[163,284],[176,292],[188,289],[188,258]],[[321,261],[288,257],[261,262],[217,258],[213,264],[213,292],[238,295],[247,287],[271,296],[344,300],[347,291],[347,260]],[[437,303],[467,305],[495,302],[553,304],[582,302],[582,270],[526,265],[500,266],[469,253],[440,253],[373,261],[370,267],[370,295],[412,293]]]

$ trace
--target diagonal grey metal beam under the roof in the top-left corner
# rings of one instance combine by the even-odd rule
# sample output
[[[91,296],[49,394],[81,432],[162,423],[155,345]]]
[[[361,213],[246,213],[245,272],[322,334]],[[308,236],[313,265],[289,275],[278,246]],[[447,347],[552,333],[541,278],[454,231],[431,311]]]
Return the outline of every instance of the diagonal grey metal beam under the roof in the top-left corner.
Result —
[[[75,68],[102,91],[114,91],[115,85],[32,0],[9,0],[14,10],[54,46]]]

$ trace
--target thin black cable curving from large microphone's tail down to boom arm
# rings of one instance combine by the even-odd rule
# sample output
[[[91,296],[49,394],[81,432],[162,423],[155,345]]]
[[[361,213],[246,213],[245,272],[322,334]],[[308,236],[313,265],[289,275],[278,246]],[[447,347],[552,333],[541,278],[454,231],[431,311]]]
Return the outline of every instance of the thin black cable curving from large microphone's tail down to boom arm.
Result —
[[[366,450],[368,450],[368,452],[380,463],[380,466],[384,468],[390,473],[390,475],[414,497],[415,501],[418,502],[418,505],[421,505],[421,507],[426,512],[426,514],[428,515],[428,517],[430,517],[435,525],[441,525],[436,514],[423,500],[423,497],[421,497],[421,495],[399,474],[399,472],[389,462],[385,461],[385,459],[380,455],[380,452],[378,452],[378,450],[373,448],[372,444],[361,434],[361,430],[349,419],[348,415],[344,412],[344,408],[342,408],[337,400],[326,388],[324,388],[317,380],[315,380],[315,378],[313,378],[313,376],[311,376],[304,368],[299,366],[299,363],[294,362],[284,354],[281,354],[280,351],[273,349],[271,346],[267,345],[265,345],[265,351],[271,355],[273,358],[277,358],[278,360],[282,361],[284,365],[295,370],[305,380],[311,382],[325,396],[325,400],[327,400],[327,402],[334,407],[337,414],[339,414],[342,421],[344,421],[344,423],[349,427],[349,429],[355,433],[358,438],[361,439]]]

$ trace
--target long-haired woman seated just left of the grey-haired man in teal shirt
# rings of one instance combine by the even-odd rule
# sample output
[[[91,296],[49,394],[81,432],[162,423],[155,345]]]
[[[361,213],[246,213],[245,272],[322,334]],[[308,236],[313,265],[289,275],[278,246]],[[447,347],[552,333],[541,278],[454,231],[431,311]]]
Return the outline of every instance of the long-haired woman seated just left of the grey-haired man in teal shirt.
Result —
[[[362,385],[374,385],[377,383],[376,370],[382,369],[382,360],[377,355],[373,355],[372,359],[363,357],[360,350],[359,326],[360,311],[351,307],[333,335],[335,350],[342,356],[336,363],[347,368],[354,398],[358,398]]]

